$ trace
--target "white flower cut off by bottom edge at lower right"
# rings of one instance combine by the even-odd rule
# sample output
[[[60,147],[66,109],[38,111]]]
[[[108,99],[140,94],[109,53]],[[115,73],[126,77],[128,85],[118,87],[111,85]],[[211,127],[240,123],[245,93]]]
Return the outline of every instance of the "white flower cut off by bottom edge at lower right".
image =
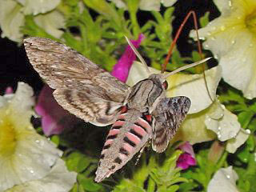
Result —
[[[207,192],[239,192],[235,182],[238,180],[238,174],[232,170],[232,166],[219,169],[210,180]]]

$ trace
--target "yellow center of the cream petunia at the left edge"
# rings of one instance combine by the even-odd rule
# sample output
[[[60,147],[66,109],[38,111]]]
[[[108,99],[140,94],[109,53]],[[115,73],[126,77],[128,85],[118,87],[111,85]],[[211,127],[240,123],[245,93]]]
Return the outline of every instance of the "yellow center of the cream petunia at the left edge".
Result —
[[[14,154],[15,146],[16,132],[14,124],[7,114],[4,118],[0,118],[0,157],[9,157]]]

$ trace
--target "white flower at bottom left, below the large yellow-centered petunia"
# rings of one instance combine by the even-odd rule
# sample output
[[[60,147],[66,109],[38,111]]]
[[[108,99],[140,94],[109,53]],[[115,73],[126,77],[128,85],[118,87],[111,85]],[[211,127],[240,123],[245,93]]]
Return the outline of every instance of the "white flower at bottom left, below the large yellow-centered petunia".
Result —
[[[6,192],[68,192],[76,182],[77,174],[66,169],[65,162],[58,159],[46,177],[14,186]]]

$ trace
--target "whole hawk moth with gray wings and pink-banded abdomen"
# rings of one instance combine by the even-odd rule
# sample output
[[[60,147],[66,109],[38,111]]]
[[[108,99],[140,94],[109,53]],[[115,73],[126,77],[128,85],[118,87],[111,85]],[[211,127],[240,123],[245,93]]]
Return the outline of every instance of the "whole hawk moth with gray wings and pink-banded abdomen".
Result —
[[[96,182],[126,165],[150,140],[156,152],[166,150],[191,103],[185,96],[166,98],[166,78],[208,59],[167,75],[150,74],[130,87],[61,43],[34,37],[26,38],[24,45],[30,63],[55,89],[54,98],[65,110],[96,126],[113,124],[102,149]]]

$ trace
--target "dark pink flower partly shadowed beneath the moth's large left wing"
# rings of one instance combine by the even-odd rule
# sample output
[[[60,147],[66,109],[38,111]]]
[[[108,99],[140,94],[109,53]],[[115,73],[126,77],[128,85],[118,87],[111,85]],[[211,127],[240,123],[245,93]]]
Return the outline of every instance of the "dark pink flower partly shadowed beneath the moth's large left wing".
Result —
[[[42,117],[42,130],[46,136],[61,134],[62,130],[78,122],[78,118],[58,105],[53,91],[49,86],[44,86],[35,106],[35,111]]]

